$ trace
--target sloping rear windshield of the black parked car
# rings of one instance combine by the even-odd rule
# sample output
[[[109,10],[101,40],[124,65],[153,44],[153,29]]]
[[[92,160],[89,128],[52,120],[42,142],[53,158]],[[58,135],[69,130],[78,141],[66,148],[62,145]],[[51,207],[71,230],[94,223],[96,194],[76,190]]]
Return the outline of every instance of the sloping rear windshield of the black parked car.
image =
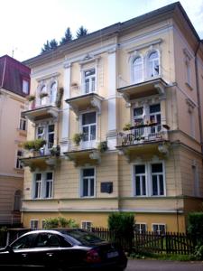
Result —
[[[81,243],[82,245],[88,246],[97,243],[104,242],[105,240],[102,238],[97,237],[96,235],[89,233],[87,231],[81,229],[74,229],[74,230],[65,230],[64,234],[69,235],[71,238],[75,238]]]

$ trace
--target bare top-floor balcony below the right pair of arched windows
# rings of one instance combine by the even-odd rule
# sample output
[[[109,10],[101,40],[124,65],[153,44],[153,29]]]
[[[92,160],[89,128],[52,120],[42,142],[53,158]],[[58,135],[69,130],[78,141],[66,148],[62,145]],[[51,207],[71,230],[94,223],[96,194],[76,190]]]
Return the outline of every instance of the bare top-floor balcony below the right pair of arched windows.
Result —
[[[134,85],[117,89],[125,98],[126,102],[131,102],[134,98],[143,98],[154,94],[165,95],[167,83],[163,79],[152,79]]]

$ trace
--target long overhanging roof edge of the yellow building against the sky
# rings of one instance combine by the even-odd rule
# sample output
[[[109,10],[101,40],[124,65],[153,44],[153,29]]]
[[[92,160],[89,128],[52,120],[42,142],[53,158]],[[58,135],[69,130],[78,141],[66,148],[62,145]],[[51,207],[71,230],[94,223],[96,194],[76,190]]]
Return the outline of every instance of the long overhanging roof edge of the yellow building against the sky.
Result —
[[[49,61],[52,57],[61,56],[61,54],[65,54],[69,51],[74,51],[80,48],[81,46],[88,46],[88,42],[97,41],[98,39],[105,39],[105,37],[109,37],[110,35],[118,34],[118,33],[125,33],[127,29],[131,27],[143,27],[143,25],[152,24],[152,20],[158,20],[158,17],[167,19],[167,14],[175,13],[175,11],[180,11],[183,18],[189,25],[189,29],[191,33],[195,36],[195,38],[200,42],[198,37],[198,33],[196,32],[195,28],[193,27],[192,23],[189,20],[189,16],[186,14],[185,10],[183,9],[180,2],[175,2],[171,5],[163,6],[159,9],[156,9],[150,13],[143,14],[141,16],[135,17],[131,20],[125,21],[124,23],[115,23],[106,28],[100,29],[94,33],[89,33],[86,36],[80,37],[70,42],[66,42],[65,44],[59,45],[57,48],[52,49],[51,51],[45,51],[42,54],[33,57],[27,61],[23,61],[26,65],[35,65],[39,61]],[[178,14],[178,18],[180,18]],[[180,22],[181,24],[181,22]]]

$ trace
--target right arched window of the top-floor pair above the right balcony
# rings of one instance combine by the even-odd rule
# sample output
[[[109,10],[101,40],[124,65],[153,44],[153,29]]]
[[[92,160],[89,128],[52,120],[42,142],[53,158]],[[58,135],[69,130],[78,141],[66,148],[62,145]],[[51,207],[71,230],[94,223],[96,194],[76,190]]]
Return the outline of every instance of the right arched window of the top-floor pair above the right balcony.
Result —
[[[158,51],[152,51],[147,58],[148,77],[152,78],[160,74],[160,58]]]

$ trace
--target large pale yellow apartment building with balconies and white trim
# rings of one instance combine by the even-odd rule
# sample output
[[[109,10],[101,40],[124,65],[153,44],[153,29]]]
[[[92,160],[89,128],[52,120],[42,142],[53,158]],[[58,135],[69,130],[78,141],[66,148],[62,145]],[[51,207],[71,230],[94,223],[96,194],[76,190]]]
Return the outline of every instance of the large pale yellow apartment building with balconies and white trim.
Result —
[[[46,145],[23,158],[23,225],[63,216],[106,227],[122,210],[139,231],[184,231],[203,208],[203,44],[180,3],[24,63],[28,140]]]

